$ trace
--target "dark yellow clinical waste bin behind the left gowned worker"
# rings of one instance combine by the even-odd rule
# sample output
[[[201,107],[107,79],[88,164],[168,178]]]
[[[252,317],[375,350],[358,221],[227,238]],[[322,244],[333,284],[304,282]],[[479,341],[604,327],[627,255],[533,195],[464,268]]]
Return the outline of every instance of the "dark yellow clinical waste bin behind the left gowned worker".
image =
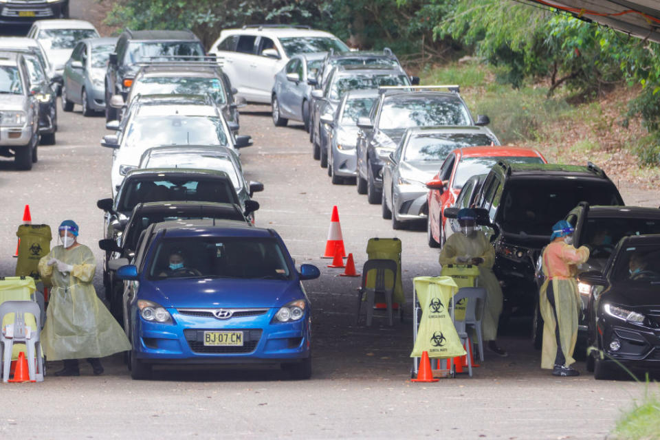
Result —
[[[16,263],[16,276],[30,276],[39,279],[39,260],[50,252],[50,241],[52,240],[50,226],[20,225],[16,235],[21,240]]]

